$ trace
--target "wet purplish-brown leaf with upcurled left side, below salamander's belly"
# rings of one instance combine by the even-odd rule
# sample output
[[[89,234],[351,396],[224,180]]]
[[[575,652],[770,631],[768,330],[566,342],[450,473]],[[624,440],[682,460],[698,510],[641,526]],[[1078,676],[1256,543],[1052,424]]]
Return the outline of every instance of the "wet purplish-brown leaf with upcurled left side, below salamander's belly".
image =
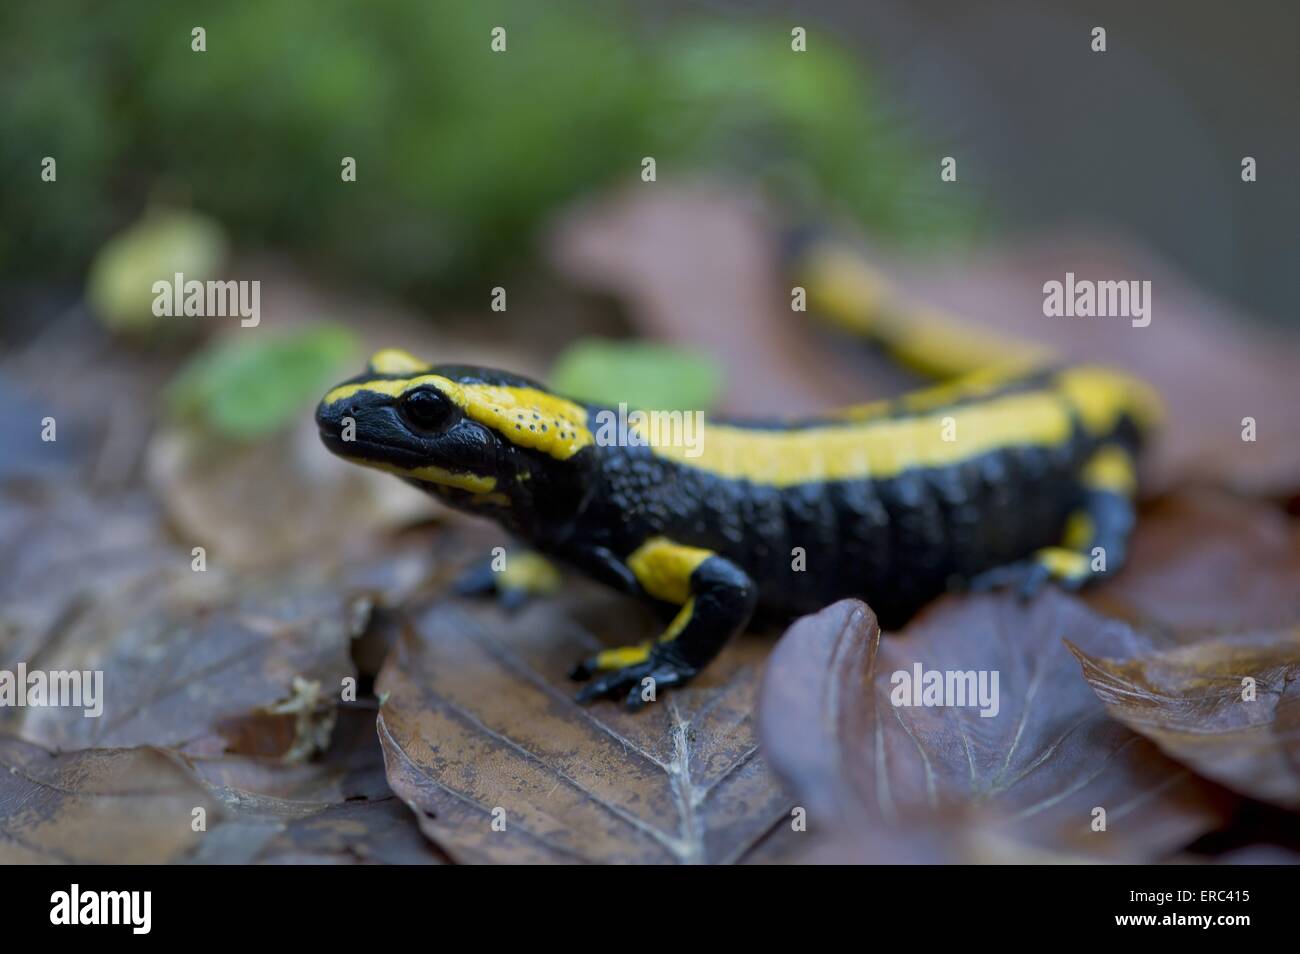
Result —
[[[883,639],[857,600],[796,623],[768,664],[760,725],[810,833],[841,860],[1149,862],[1214,828],[1221,790],[1109,719],[1062,637],[1138,643],[1054,591],[948,599]],[[997,714],[892,704],[893,675],[918,664],[997,672]],[[1098,807],[1105,831],[1091,827]]]

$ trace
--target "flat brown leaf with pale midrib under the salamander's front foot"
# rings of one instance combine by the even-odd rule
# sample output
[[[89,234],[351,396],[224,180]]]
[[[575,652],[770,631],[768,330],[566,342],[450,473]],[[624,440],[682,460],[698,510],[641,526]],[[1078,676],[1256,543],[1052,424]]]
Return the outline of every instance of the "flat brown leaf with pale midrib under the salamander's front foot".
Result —
[[[768,641],[737,639],[642,712],[580,707],[564,672],[597,641],[573,606],[619,643],[653,629],[577,585],[516,617],[465,603],[419,617],[377,684],[393,790],[458,862],[744,858],[790,807],[753,719]]]

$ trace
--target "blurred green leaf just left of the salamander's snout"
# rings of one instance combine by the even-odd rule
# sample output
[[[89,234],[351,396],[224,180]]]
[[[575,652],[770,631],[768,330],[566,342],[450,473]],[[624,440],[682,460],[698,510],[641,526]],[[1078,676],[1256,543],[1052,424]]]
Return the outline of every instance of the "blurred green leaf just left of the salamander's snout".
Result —
[[[338,325],[214,342],[172,382],[170,411],[235,441],[266,437],[317,400],[359,347]]]

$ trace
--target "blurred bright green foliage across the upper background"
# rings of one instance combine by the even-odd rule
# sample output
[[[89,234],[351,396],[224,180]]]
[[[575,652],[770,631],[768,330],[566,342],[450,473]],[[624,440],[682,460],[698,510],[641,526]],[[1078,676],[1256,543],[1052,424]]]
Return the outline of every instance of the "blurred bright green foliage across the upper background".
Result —
[[[701,168],[833,201],[897,238],[967,222],[870,78],[815,29],[650,27],[551,0],[0,4],[0,272],[79,276],[151,198],[237,246],[404,292],[528,248],[580,191]],[[621,14],[621,16],[620,16]],[[494,26],[507,52],[490,49]],[[191,51],[191,29],[207,52]],[[53,156],[57,182],[39,179]],[[352,156],[358,181],[341,181]],[[928,186],[924,186],[928,188]]]

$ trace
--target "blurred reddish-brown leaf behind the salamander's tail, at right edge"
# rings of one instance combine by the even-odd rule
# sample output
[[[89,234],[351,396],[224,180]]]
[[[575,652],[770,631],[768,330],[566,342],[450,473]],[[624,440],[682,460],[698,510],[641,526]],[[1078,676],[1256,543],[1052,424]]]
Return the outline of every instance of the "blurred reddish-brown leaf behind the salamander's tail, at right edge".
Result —
[[[902,272],[904,269],[900,269]],[[1300,339],[1200,291],[1152,252],[1114,235],[1041,237],[961,264],[906,266],[907,285],[991,330],[1054,347],[1070,360],[1124,368],[1165,398],[1167,420],[1147,460],[1147,487],[1187,480],[1251,494],[1300,490]],[[1152,283],[1152,321],[1048,318],[1043,285]],[[1256,441],[1243,441],[1243,419]]]

